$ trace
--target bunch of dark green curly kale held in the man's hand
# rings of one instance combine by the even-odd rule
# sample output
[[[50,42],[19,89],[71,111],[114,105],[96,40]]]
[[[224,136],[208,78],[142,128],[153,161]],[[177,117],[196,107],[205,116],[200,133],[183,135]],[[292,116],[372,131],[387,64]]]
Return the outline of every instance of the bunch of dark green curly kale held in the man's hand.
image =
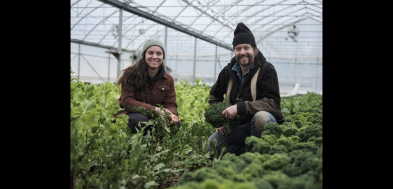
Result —
[[[240,116],[236,115],[235,119],[226,119],[221,114],[226,108],[230,107],[227,103],[218,103],[211,106],[204,113],[206,121],[209,122],[213,127],[220,128],[224,127],[226,133],[230,133],[230,128],[236,127],[240,123]]]

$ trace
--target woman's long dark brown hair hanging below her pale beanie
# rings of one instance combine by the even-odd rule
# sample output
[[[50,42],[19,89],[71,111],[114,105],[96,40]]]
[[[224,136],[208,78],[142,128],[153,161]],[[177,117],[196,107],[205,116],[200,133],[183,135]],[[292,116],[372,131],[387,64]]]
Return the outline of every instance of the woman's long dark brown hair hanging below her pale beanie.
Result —
[[[161,71],[163,65],[164,62],[161,63],[158,72]],[[137,92],[137,98],[139,100],[143,100],[144,92],[148,84],[147,80],[149,77],[147,67],[148,65],[145,60],[145,54],[142,54],[142,58],[140,58],[137,63],[135,63],[133,66],[129,66],[128,68],[120,72],[121,77],[116,83],[116,85],[119,85],[121,83],[124,87],[127,87],[128,90],[130,90],[128,88],[129,85],[134,85]]]

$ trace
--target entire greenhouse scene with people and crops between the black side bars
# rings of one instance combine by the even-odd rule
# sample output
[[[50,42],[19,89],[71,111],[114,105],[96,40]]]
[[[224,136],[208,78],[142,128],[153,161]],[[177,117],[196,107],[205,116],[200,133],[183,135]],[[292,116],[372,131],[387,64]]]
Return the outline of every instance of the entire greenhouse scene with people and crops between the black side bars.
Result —
[[[322,0],[70,11],[71,189],[323,188]]]

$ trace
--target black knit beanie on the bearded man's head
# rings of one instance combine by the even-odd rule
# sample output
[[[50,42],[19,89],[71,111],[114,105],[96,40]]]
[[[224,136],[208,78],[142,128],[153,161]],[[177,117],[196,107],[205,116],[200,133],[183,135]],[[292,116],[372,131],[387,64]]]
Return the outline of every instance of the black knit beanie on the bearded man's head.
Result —
[[[233,49],[235,49],[236,45],[247,43],[256,47],[255,38],[251,30],[244,25],[242,22],[237,24],[235,32],[233,33]]]

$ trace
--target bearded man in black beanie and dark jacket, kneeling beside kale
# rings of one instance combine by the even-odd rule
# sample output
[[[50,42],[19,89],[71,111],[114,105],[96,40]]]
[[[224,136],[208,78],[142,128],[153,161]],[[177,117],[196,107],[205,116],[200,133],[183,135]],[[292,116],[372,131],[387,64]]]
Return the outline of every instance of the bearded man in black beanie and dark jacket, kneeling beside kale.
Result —
[[[285,119],[280,108],[276,70],[256,48],[253,33],[243,23],[237,25],[232,45],[235,57],[220,72],[212,86],[209,105],[225,100],[234,106],[226,108],[222,115],[226,119],[240,115],[241,122],[232,128],[230,134],[225,133],[222,127],[217,128],[208,140],[211,142],[217,138],[219,151],[226,143],[227,152],[239,155],[249,151],[249,146],[244,143],[246,137],[253,135],[260,138],[267,123],[282,124]],[[207,151],[210,150],[208,145]]]

